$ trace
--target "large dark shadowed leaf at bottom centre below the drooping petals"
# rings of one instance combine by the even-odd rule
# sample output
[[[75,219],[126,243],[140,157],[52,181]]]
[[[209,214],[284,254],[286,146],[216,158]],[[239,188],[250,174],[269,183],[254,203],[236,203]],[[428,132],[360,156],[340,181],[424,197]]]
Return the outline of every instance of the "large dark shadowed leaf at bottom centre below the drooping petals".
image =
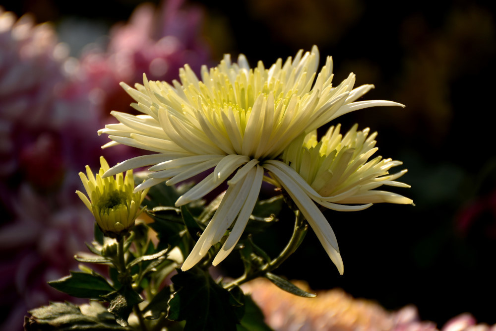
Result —
[[[199,268],[178,269],[172,282],[177,290],[169,300],[169,320],[186,320],[185,331],[236,330],[239,319],[233,296],[208,272]]]

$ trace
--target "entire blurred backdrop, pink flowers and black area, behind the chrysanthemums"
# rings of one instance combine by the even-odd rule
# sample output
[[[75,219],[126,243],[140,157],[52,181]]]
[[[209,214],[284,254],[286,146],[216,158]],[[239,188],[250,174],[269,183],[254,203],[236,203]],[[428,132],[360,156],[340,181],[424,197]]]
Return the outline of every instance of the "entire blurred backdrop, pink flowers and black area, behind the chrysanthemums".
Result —
[[[77,172],[85,164],[96,169],[102,153],[110,163],[137,153],[102,152],[106,138],[96,135],[112,121],[111,110],[129,109],[119,81],[139,82],[142,72],[170,81],[183,64],[215,65],[224,53],[268,66],[314,44],[322,58],[333,56],[335,82],[353,71],[357,86],[375,85],[367,99],[406,105],[338,120],[346,130],[359,123],[379,132],[378,153],[408,169],[402,181],[412,188],[395,192],[416,205],[329,211],[345,274],[338,275],[311,231],[277,273],[313,289],[342,288],[388,310],[413,304],[438,326],[463,312],[496,324],[493,2],[148,3],[0,1],[17,17],[31,13],[33,24],[52,22],[34,28],[24,17],[15,30],[0,21],[4,328],[18,326],[27,309],[63,298],[44,282],[66,274],[73,252],[84,248],[81,238],[91,236],[84,225],[90,215],[73,194]],[[275,254],[291,230],[292,218],[283,215],[258,240],[271,242],[266,248]],[[240,266],[228,261],[225,272],[235,276]]]

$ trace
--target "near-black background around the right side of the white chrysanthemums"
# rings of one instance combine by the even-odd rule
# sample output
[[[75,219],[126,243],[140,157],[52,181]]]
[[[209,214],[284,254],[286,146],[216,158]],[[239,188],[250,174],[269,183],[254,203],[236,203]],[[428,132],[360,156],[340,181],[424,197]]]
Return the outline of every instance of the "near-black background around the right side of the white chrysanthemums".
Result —
[[[32,12],[39,22],[59,24],[76,17],[110,27],[127,20],[138,3],[25,0],[1,5],[19,16]],[[311,231],[277,273],[308,280],[313,289],[341,287],[387,309],[415,304],[423,320],[439,325],[463,312],[495,324],[494,4],[190,3],[205,10],[203,34],[213,63],[223,53],[244,53],[250,64],[262,60],[268,66],[316,44],[322,63],[325,56],[333,56],[335,82],[353,71],[356,86],[375,85],[367,99],[406,105],[361,110],[339,118],[339,123],[344,130],[359,123],[360,129],[379,132],[379,154],[402,160],[409,170],[402,181],[412,188],[395,192],[414,199],[416,206],[328,211],[345,274],[338,275]],[[274,242],[268,250],[276,253],[291,229],[292,218],[283,216],[273,232],[258,240]]]

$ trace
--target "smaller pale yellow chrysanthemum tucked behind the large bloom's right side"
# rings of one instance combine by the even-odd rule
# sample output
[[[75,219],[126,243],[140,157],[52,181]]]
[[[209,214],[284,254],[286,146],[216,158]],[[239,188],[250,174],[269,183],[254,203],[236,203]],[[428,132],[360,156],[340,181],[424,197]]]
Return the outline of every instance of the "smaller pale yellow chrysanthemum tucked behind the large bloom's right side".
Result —
[[[277,168],[269,166],[276,178],[296,171],[304,180],[300,187],[313,200],[329,209],[347,211],[362,210],[372,203],[389,202],[409,204],[412,199],[395,193],[374,190],[382,185],[409,188],[410,185],[396,182],[407,170],[390,175],[389,169],[403,164],[377,156],[368,161],[377,151],[377,132],[369,135],[370,129],[357,131],[354,125],[344,137],[341,125],[331,127],[317,142],[317,132],[302,134],[284,151],[282,159],[289,167],[280,163]],[[281,181],[284,186],[284,180]],[[306,184],[308,183],[308,184]],[[360,205],[346,205],[346,204]]]

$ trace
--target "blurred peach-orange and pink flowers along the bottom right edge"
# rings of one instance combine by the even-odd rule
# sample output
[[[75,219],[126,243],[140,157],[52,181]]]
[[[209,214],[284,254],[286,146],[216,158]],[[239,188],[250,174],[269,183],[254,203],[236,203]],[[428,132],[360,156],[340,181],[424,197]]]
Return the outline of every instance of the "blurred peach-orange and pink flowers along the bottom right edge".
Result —
[[[310,291],[303,282],[297,282],[297,286]],[[242,287],[245,293],[251,293],[265,322],[276,331],[438,330],[433,322],[421,321],[414,306],[388,312],[373,301],[354,299],[341,289],[302,298],[261,278]],[[441,331],[496,331],[496,326],[477,324],[470,314],[462,314],[448,321]]]

